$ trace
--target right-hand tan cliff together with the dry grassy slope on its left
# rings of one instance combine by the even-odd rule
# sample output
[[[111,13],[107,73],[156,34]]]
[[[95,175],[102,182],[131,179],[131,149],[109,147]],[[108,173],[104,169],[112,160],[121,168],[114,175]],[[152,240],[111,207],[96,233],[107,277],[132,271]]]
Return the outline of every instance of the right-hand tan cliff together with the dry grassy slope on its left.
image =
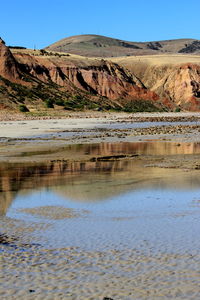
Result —
[[[189,60],[189,58],[188,58]],[[144,86],[155,92],[171,110],[200,110],[200,63],[161,64],[141,61],[130,64],[122,62],[137,75]]]

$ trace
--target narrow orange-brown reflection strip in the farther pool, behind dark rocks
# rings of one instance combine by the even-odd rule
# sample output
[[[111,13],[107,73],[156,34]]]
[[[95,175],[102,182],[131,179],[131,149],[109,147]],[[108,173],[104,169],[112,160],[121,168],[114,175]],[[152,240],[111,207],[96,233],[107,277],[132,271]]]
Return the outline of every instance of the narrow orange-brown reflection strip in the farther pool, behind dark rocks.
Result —
[[[13,155],[12,157],[40,157],[46,159],[85,160],[98,156],[115,155],[179,155],[200,154],[200,143],[175,143],[166,141],[120,142],[76,144],[48,150],[34,150]],[[10,156],[9,156],[10,157]]]

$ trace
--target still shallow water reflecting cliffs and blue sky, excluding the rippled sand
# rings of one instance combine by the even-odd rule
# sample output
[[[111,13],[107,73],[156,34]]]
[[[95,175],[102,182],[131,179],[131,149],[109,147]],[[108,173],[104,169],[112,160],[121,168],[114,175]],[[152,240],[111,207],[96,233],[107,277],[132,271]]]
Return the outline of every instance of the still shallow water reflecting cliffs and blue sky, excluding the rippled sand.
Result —
[[[70,149],[94,156],[200,153],[199,144],[165,142]],[[199,170],[144,167],[137,158],[1,164],[1,234],[49,249],[73,246],[196,254],[199,174]]]

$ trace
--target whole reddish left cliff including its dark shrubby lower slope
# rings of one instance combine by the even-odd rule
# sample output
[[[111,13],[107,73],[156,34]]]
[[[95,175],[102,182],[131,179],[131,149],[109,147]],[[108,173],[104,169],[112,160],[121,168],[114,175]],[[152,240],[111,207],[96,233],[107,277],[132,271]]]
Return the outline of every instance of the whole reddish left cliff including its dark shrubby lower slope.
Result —
[[[81,101],[86,106],[90,103],[91,108],[103,105],[122,109],[135,100],[156,102],[160,107],[158,95],[116,63],[46,51],[19,50],[12,54],[3,42],[1,48],[1,95],[7,92],[9,100],[1,104],[8,105],[15,99],[34,105],[33,101],[50,99],[70,108],[70,104],[76,107],[78,103],[74,102],[84,98]]]

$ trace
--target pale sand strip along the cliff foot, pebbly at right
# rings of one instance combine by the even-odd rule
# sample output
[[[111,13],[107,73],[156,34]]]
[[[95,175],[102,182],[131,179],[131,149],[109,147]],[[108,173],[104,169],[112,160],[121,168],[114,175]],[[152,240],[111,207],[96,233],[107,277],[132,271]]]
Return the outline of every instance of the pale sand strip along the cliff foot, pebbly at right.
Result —
[[[26,115],[9,114],[1,117],[0,114],[0,138],[27,138],[44,136],[50,133],[84,129],[109,129],[110,125],[125,124],[133,122],[200,122],[200,113],[70,113],[63,118],[58,117],[28,117]]]

